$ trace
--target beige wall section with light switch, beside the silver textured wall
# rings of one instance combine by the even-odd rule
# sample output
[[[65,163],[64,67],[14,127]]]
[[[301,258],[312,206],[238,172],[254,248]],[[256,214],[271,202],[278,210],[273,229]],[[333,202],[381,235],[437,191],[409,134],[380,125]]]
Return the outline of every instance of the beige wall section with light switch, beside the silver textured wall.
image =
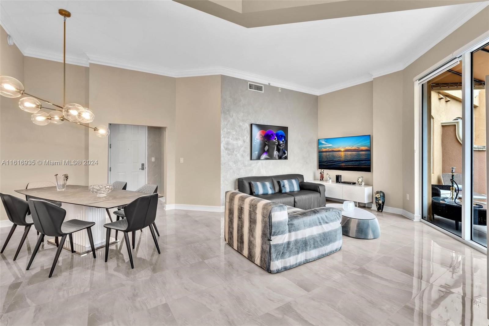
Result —
[[[177,78],[176,122],[175,202],[220,206],[220,75]]]

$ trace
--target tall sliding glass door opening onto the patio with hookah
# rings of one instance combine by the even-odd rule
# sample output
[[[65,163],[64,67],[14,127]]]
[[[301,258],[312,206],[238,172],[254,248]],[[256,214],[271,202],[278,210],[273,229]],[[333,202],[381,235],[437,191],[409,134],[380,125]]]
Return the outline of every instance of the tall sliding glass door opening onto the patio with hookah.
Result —
[[[420,80],[422,219],[487,247],[489,44]]]

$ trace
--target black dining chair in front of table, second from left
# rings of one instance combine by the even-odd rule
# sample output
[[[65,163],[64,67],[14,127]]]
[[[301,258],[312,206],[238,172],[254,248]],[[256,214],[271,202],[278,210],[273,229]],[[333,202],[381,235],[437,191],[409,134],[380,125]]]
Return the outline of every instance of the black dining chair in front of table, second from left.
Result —
[[[39,239],[37,240],[36,247],[32,252],[32,256],[27,264],[27,269],[29,270],[34,257],[36,256],[39,246],[44,240],[44,235],[47,236],[61,236],[61,240],[56,250],[56,255],[54,256],[53,265],[51,266],[51,271],[49,272],[49,277],[53,275],[54,268],[58,262],[58,258],[63,250],[63,245],[65,244],[66,236],[69,237],[69,243],[71,245],[71,253],[73,250],[73,233],[87,229],[89,235],[90,247],[92,250],[93,258],[95,256],[95,247],[93,246],[93,237],[91,233],[91,227],[95,225],[95,222],[82,221],[77,219],[71,219],[65,222],[66,210],[61,207],[54,205],[52,203],[46,202],[40,199],[29,199],[29,208],[32,213],[32,221],[34,222],[34,227],[39,233]]]

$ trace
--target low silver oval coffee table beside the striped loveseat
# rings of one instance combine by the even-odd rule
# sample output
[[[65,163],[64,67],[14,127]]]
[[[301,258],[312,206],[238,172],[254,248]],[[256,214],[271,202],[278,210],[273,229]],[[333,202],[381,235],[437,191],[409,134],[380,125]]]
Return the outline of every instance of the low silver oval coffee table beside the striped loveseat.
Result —
[[[341,210],[343,235],[358,239],[377,239],[380,236],[377,217],[371,212],[358,207],[343,210],[343,204],[327,204],[326,207]]]

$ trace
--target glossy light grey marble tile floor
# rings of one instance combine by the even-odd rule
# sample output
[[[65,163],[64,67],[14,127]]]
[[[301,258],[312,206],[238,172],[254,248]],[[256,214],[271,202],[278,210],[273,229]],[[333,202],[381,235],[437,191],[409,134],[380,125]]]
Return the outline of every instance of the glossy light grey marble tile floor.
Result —
[[[374,212],[374,211],[373,211]],[[487,257],[420,222],[377,213],[381,236],[344,236],[333,255],[269,274],[224,243],[223,213],[163,210],[97,258],[44,244],[0,255],[0,325],[488,325]],[[3,244],[9,228],[0,229]]]

